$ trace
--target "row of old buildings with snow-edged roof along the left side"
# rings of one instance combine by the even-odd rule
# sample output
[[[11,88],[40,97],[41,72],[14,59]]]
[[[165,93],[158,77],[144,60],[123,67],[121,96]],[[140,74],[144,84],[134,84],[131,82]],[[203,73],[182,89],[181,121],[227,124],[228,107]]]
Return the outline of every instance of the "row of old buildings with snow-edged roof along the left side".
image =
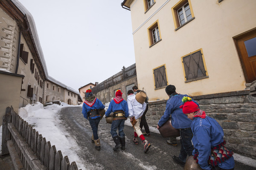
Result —
[[[11,105],[18,112],[35,102],[82,102],[78,91],[48,75],[35,22],[20,2],[0,1],[0,26],[0,125]]]

